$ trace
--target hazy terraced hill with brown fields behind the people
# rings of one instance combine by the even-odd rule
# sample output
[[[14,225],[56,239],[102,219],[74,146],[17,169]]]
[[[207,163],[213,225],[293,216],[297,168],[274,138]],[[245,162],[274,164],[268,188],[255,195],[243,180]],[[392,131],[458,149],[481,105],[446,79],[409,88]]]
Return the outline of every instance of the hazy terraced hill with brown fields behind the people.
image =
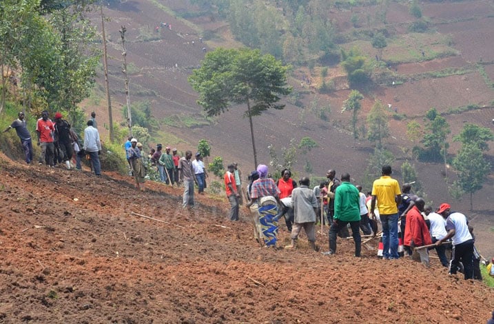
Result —
[[[311,5],[317,1],[298,2]],[[276,1],[265,3],[269,5],[267,10],[277,8],[281,14],[289,14],[281,5],[276,6]],[[491,1],[479,0],[424,1],[419,6],[426,32],[410,32],[409,26],[417,19],[411,15],[409,3],[401,1],[362,3],[353,8],[333,3],[328,12],[318,14],[327,14],[336,35],[327,52],[337,55],[340,48],[348,50],[356,46],[368,63],[374,64],[373,73],[382,75],[380,82],[359,89],[364,94],[359,127],[366,124],[366,115],[375,99],[384,105],[390,104],[392,110],[397,108],[397,114],[389,112],[391,134],[384,143],[395,155],[395,176],[401,182],[400,165],[406,160],[413,163],[428,200],[433,205],[449,201],[453,209],[468,214],[480,236],[477,241],[482,245],[481,251],[492,255],[494,250],[488,240],[492,239],[494,229],[494,208],[490,199],[493,176],[488,178],[484,189],[475,194],[475,210],[469,212],[468,197],[455,200],[448,194],[448,186],[455,179],[452,168],[446,168],[444,163],[413,161],[411,148],[418,142],[408,138],[406,124],[413,120],[423,124],[425,112],[436,108],[451,125],[449,154],[455,154],[460,148],[451,138],[460,132],[464,123],[493,129],[494,5]],[[242,45],[234,39],[225,19],[218,14],[206,13],[204,8],[193,6],[189,1],[158,0],[111,1],[105,6],[104,13],[109,17],[105,27],[109,41],[113,115],[115,119],[123,120],[121,107],[125,103],[125,92],[119,29],[125,26],[130,99],[132,103],[149,107],[157,122],[148,144],[163,143],[185,151],[196,150],[198,141],[207,139],[212,145],[212,156],[222,156],[225,163],[238,161],[247,173],[254,168],[254,159],[249,125],[242,118],[245,108],[231,108],[218,118],[207,118],[196,104],[196,92],[187,83],[187,76],[200,65],[205,55],[203,48],[209,51],[217,46]],[[98,19],[94,17],[96,23]],[[387,47],[382,50],[384,66],[382,61],[375,61],[375,55],[379,53],[365,36],[366,30],[389,33]],[[280,37],[290,31],[280,27]],[[307,57],[314,59],[294,64],[289,77],[294,93],[283,99],[287,105],[285,110],[268,111],[254,119],[259,161],[269,163],[268,145],[274,145],[280,156],[291,139],[298,143],[302,137],[309,136],[320,147],[311,150],[307,156],[298,156],[294,168],[296,177],[305,174],[307,159],[315,175],[324,176],[326,170],[332,168],[337,174],[349,172],[356,183],[362,183],[373,145],[364,137],[354,141],[350,112],[340,112],[351,91],[346,74],[332,59],[324,61],[310,54]],[[323,73],[326,68],[327,73]],[[331,91],[320,92],[323,82],[331,85]],[[88,112],[96,110],[100,123],[107,124],[102,78],[84,106]],[[322,112],[325,120],[321,119]],[[492,149],[487,154],[493,161]]]

